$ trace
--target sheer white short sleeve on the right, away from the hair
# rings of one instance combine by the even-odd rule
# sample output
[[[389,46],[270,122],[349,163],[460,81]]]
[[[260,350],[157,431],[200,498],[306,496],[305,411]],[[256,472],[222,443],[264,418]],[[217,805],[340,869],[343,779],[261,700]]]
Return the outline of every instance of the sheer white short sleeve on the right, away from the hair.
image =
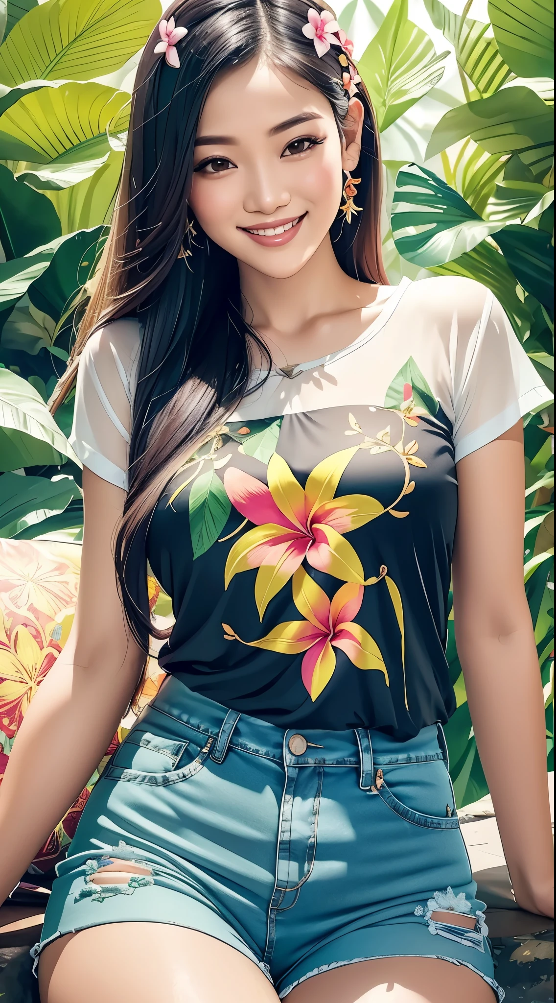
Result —
[[[450,334],[456,462],[553,400],[496,297],[458,281]]]

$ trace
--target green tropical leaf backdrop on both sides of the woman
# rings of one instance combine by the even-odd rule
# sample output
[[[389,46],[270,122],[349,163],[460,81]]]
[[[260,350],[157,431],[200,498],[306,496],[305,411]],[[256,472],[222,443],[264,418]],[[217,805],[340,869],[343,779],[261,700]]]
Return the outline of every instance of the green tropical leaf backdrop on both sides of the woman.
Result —
[[[159,0],[0,0],[0,537],[80,539],[73,400],[55,419],[46,401],[108,233],[134,72],[160,13]],[[553,388],[553,0],[343,0],[337,13],[381,128],[390,281],[484,283]],[[553,406],[524,418],[524,580],[549,768],[553,422]],[[487,785],[452,619],[447,657],[462,806]]]

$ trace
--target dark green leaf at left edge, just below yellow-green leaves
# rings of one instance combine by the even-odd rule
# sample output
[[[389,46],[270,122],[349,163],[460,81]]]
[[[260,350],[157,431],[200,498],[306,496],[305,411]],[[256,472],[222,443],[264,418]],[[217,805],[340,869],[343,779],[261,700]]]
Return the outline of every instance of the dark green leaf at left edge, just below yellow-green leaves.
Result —
[[[52,203],[39,192],[16,182],[11,171],[0,164],[0,243],[6,261],[22,258],[61,233]]]

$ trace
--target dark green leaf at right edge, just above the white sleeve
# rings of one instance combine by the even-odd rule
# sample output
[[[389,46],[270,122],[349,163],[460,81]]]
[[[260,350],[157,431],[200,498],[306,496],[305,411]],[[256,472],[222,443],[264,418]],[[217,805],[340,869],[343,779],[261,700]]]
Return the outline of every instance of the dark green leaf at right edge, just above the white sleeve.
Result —
[[[544,230],[518,225],[505,227],[496,234],[495,241],[520,285],[552,310],[554,248],[551,235]]]

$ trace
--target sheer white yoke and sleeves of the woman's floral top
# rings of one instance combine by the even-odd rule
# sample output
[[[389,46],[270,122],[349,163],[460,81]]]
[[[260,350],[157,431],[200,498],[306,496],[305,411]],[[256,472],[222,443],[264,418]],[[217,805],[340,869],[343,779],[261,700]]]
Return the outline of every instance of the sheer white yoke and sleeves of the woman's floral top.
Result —
[[[270,372],[230,421],[346,404],[382,404],[414,360],[453,425],[455,461],[553,399],[493,294],[471,279],[438,277],[384,286],[378,319],[351,345]],[[127,487],[131,403],[139,356],[134,319],[112,322],[87,342],[77,375],[70,443],[104,480]],[[261,373],[253,373],[256,382]]]

